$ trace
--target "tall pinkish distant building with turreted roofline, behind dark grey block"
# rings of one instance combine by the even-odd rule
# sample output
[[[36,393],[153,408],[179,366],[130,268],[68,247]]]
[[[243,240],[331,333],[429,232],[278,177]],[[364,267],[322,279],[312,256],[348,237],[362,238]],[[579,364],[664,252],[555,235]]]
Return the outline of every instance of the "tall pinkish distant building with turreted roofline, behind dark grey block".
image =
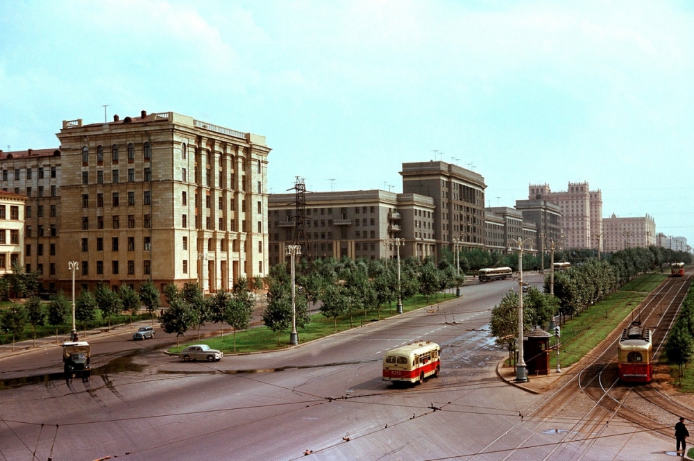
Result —
[[[552,192],[548,184],[531,184],[530,200],[546,200],[561,208],[561,231],[565,248],[600,249],[602,240],[602,192],[590,190],[588,182],[568,183],[568,190]]]

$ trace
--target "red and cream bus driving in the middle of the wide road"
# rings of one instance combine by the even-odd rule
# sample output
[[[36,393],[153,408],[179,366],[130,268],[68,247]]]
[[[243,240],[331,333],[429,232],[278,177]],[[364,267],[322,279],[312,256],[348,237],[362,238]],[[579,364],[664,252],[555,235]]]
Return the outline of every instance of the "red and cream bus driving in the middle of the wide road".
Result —
[[[383,358],[383,380],[421,384],[439,377],[441,348],[434,342],[415,342],[388,351]]]

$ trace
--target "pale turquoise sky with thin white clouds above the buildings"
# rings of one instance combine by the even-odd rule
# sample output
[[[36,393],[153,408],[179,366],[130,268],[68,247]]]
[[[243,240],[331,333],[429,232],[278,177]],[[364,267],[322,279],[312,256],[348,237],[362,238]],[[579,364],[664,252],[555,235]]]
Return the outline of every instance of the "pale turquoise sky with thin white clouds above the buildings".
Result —
[[[0,2],[0,149],[104,105],[266,136],[273,193],[402,192],[436,159],[487,206],[588,181],[694,246],[688,1]]]

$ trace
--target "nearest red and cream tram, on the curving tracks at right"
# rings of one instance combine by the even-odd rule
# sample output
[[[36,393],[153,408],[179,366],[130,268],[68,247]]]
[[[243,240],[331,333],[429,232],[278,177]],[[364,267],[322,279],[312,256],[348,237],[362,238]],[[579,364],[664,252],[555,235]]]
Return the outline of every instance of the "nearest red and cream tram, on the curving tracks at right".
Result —
[[[653,379],[651,330],[632,321],[624,329],[617,346],[619,378],[626,383],[650,383]]]

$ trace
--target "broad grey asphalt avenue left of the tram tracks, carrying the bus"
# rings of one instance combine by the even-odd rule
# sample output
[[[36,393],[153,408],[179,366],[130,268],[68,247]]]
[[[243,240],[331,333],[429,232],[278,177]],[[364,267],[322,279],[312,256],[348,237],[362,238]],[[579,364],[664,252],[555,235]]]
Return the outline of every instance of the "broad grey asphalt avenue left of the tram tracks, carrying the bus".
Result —
[[[319,460],[426,460],[470,459],[499,439],[516,447],[527,436],[519,414],[543,397],[498,379],[506,352],[484,329],[512,287],[467,285],[462,299],[438,308],[212,364],[164,355],[157,348],[171,338],[160,332],[137,343],[99,338],[88,382],[62,378],[59,348],[8,358],[0,361],[0,451],[8,460],[34,452],[39,460],[290,460],[306,450]],[[441,376],[415,387],[384,383],[384,351],[423,340],[441,344]],[[532,460],[545,452],[513,453]]]

